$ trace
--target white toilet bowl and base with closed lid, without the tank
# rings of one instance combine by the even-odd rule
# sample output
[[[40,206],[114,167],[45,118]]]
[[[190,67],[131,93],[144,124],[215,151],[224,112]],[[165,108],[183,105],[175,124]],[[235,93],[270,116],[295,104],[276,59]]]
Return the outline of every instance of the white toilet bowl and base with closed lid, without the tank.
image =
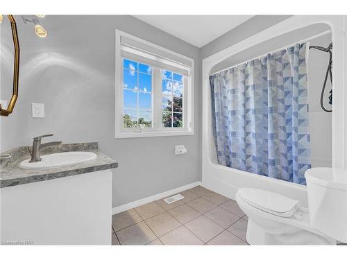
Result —
[[[246,239],[251,245],[336,245],[310,225],[310,212],[298,200],[252,188],[238,189],[235,200],[248,216]]]

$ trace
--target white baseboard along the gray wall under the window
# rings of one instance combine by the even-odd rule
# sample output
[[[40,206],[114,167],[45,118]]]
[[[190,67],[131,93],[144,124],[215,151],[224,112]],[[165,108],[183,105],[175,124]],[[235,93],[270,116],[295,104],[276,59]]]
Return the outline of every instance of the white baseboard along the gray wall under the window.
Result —
[[[185,186],[178,187],[176,189],[171,189],[169,191],[164,191],[162,193],[155,194],[153,196],[149,196],[147,198],[142,198],[141,200],[136,200],[118,207],[112,208],[112,215],[115,215],[119,212],[126,211],[128,209],[133,209],[134,207],[139,207],[141,205],[144,205],[146,203],[155,201],[155,200],[160,200],[161,198],[166,198],[168,196],[174,195],[176,193],[179,193],[181,191],[185,191],[186,189],[192,189],[193,187],[196,187],[198,185],[202,186],[201,182],[193,182],[191,184],[187,184]]]

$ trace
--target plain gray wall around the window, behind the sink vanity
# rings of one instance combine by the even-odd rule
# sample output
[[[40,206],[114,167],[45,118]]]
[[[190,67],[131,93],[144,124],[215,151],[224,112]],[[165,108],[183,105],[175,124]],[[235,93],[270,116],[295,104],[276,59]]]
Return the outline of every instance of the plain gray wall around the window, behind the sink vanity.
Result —
[[[17,19],[21,85],[15,113],[1,119],[1,150],[31,145],[33,137],[51,132],[64,143],[99,141],[101,151],[119,162],[112,177],[112,207],[201,180],[198,48],[130,16],[49,15],[42,20],[49,31],[46,39]],[[115,139],[116,28],[195,60],[195,135]],[[2,37],[1,49],[10,49],[10,40]],[[2,56],[1,65],[8,76],[11,65],[3,64]],[[6,82],[12,78],[1,77],[2,99],[10,96]],[[44,103],[44,119],[31,117],[32,102]],[[188,153],[174,155],[176,144],[184,144]]]

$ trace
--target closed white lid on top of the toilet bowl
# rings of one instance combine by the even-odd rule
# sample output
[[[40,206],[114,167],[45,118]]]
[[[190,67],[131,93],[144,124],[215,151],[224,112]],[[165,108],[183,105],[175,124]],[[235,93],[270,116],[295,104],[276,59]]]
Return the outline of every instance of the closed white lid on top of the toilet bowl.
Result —
[[[262,189],[241,188],[237,195],[257,209],[283,217],[293,216],[300,204],[298,200]]]

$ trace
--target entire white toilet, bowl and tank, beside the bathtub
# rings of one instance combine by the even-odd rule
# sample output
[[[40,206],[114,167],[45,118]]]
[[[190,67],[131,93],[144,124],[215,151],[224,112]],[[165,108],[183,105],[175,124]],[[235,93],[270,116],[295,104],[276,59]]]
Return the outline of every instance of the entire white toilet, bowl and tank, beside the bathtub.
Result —
[[[261,189],[241,188],[236,201],[248,216],[251,245],[336,245],[347,242],[347,171],[312,168],[305,173],[309,208]]]

